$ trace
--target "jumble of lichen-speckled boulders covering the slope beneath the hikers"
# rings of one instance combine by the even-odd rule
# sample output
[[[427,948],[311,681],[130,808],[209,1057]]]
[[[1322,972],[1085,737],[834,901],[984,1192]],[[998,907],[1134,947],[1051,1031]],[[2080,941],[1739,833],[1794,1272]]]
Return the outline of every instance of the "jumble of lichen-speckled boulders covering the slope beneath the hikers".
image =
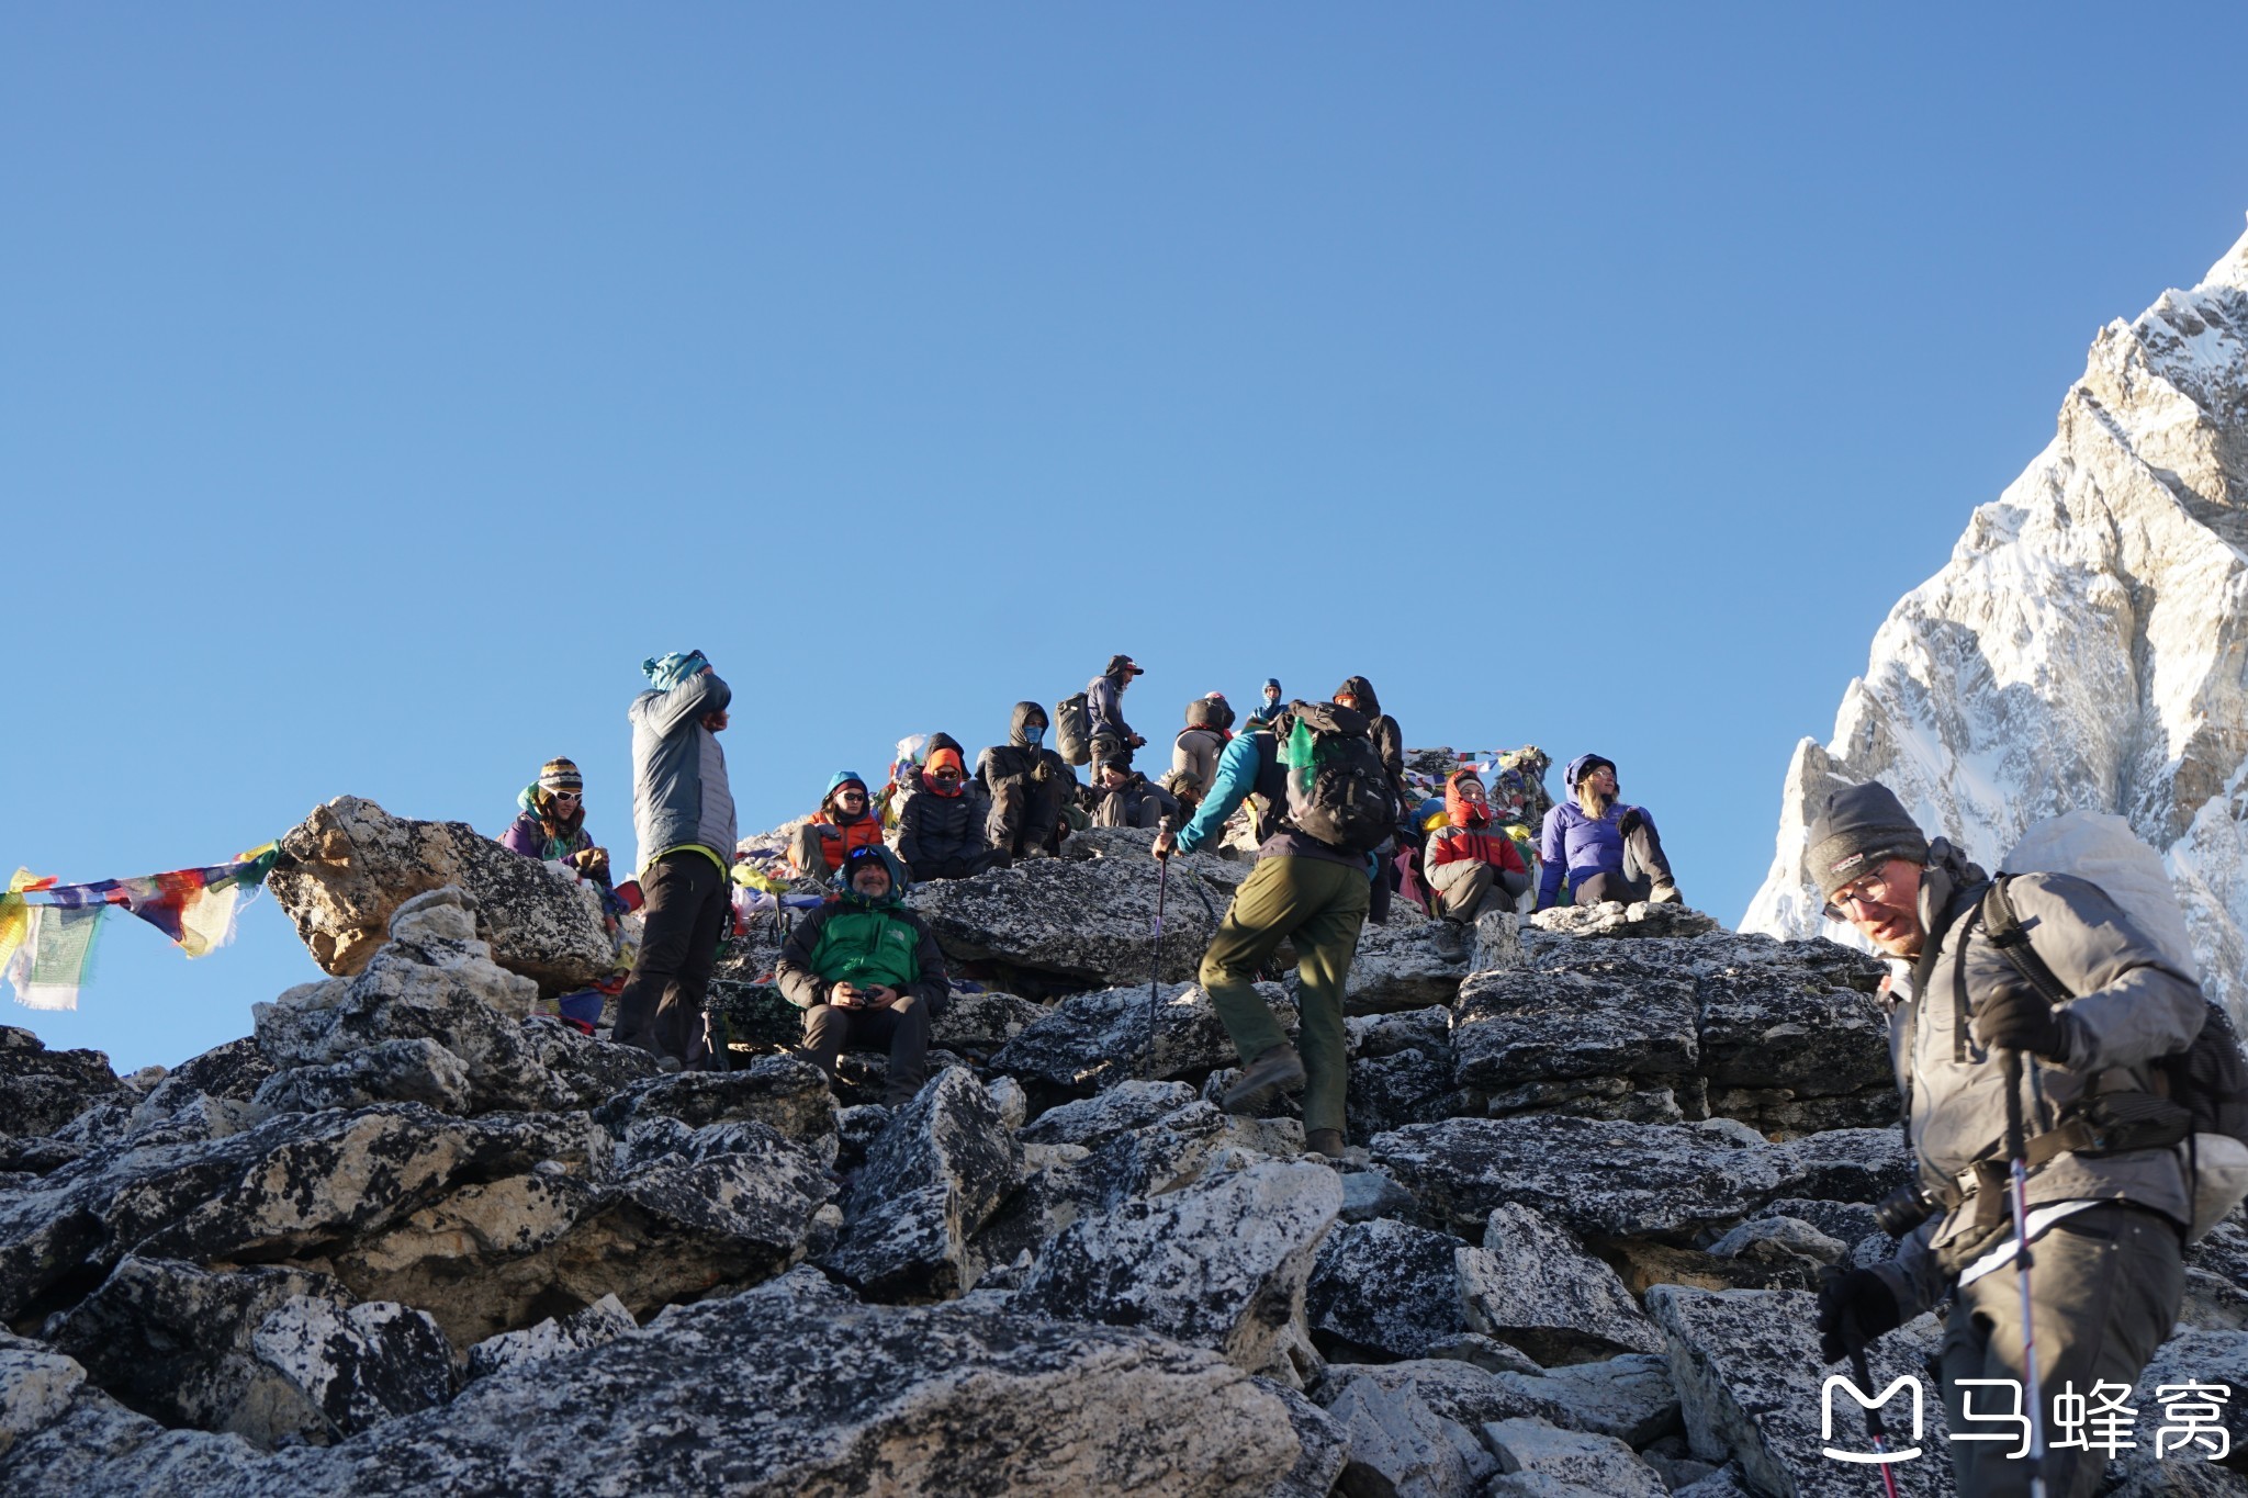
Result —
[[[1212,1100],[1196,932],[1248,865],[1173,869],[1153,1033],[1144,833],[917,889],[980,990],[886,1107],[881,1056],[665,1076],[535,1015],[582,932],[531,860],[553,889],[472,847],[429,887],[400,849],[456,833],[351,797],[292,838],[335,977],[250,1038],[119,1080],[0,1029],[11,1498],[1868,1491],[1821,1455],[1807,1294],[1888,1253],[1906,1172],[1859,952],[1619,905],[1470,972],[1401,907],[1338,1168],[1293,1100]],[[2248,1370],[2248,1233],[2190,1262],[2149,1379]]]

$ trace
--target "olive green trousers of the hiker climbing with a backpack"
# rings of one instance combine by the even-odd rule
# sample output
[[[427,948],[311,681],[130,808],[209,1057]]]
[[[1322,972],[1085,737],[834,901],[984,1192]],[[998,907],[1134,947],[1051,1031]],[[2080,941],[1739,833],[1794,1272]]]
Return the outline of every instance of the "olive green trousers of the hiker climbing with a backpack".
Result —
[[[1272,1011],[1257,997],[1254,977],[1279,943],[1293,939],[1306,1132],[1342,1132],[1342,1096],[1349,1087],[1342,984],[1351,972],[1351,952],[1358,950],[1371,894],[1367,871],[1347,862],[1259,858],[1203,952],[1203,990],[1248,1065],[1272,1047],[1288,1044]]]

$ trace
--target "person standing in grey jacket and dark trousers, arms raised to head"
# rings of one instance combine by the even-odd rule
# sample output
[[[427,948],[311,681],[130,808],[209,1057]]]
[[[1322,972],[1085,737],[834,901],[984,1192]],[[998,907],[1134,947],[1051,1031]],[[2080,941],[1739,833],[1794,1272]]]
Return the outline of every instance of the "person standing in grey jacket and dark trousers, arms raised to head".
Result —
[[[726,934],[733,788],[726,784],[728,687],[701,651],[643,660],[652,687],[632,698],[632,829],[641,840],[641,948],[616,999],[616,1042],[677,1071],[701,1044],[701,1002]]]

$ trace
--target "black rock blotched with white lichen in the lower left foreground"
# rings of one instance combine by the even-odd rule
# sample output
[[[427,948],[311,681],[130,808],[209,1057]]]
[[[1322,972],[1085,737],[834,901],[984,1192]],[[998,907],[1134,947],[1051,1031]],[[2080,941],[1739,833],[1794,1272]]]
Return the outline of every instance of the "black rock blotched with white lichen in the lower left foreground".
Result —
[[[393,1303],[339,1307],[292,1296],[259,1323],[250,1345],[337,1440],[452,1395],[445,1334],[429,1316]]]

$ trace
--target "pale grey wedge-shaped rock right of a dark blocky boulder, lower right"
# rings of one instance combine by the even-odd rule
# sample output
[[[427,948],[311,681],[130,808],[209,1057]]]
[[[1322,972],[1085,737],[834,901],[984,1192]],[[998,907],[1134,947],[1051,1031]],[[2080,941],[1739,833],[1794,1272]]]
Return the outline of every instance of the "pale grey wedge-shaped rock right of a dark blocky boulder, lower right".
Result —
[[[1484,1246],[1459,1249],[1457,1258],[1468,1330],[1522,1348],[1540,1363],[1664,1348],[1616,1271],[1520,1202],[1490,1208]]]

